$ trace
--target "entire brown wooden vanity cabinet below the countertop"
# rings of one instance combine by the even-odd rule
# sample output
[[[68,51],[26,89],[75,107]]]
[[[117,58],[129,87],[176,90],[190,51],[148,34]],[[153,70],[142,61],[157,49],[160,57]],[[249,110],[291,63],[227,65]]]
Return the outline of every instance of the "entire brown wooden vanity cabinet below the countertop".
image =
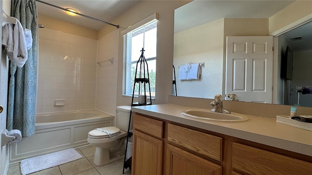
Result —
[[[132,175],[312,175],[312,157],[134,113]]]

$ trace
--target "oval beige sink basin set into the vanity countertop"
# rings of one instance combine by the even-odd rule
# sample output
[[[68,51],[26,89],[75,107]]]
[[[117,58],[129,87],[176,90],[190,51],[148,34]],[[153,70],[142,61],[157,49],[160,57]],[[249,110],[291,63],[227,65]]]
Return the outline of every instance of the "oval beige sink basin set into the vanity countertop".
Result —
[[[248,121],[249,117],[231,112],[231,114],[212,112],[209,109],[191,109],[181,112],[183,116],[194,117],[197,119],[216,121],[216,122],[244,122]]]

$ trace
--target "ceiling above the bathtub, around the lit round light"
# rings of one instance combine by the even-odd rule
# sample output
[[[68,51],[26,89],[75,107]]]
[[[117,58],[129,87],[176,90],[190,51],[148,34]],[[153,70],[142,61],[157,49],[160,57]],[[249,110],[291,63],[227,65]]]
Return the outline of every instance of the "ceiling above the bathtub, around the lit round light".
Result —
[[[140,0],[41,0],[62,8],[72,8],[78,13],[97,18],[105,22],[111,21],[137,4]],[[82,16],[66,15],[64,10],[37,1],[38,14],[57,18],[66,22],[84,26],[93,30],[100,30],[105,23]],[[40,17],[39,17],[40,18]],[[44,25],[44,22],[42,22]],[[118,25],[118,24],[115,24]],[[114,26],[112,26],[114,27]]]

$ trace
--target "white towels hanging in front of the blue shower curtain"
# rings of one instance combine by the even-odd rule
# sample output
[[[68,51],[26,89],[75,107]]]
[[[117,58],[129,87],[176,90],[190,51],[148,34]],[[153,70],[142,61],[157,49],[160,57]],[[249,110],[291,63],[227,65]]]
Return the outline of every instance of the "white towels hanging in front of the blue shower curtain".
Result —
[[[2,45],[5,46],[5,53],[7,54],[9,60],[14,61],[18,67],[23,67],[27,61],[27,44],[24,35],[24,29],[17,20],[17,23],[5,24],[2,27]],[[13,39],[12,39],[13,38]],[[13,42],[12,42],[13,41]]]

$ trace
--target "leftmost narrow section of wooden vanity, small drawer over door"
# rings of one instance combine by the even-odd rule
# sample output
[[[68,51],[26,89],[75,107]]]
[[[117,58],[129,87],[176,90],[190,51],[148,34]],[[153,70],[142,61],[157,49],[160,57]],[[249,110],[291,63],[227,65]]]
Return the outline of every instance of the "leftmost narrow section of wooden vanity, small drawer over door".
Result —
[[[163,122],[134,114],[132,175],[162,175]]]

